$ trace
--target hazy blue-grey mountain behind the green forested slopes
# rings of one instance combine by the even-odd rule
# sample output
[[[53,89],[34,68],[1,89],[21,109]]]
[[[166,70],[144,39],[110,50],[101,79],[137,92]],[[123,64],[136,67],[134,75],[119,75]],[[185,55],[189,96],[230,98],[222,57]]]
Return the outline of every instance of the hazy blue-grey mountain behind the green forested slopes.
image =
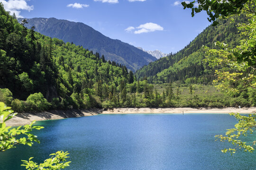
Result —
[[[18,18],[19,23],[21,20],[22,18]],[[27,28],[35,26],[35,31],[41,34],[82,45],[89,51],[97,51],[104,55],[105,59],[126,65],[132,71],[156,60],[145,51],[120,40],[111,39],[83,23],[53,17],[31,18],[27,19],[27,22]]]

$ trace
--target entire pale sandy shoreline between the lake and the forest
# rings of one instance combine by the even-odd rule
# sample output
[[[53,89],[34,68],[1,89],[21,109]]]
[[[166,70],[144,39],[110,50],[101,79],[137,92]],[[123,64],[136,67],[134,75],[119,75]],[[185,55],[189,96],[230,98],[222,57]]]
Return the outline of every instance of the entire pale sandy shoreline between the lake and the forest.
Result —
[[[90,110],[49,110],[43,112],[18,113],[6,122],[7,126],[21,126],[30,124],[32,121],[77,118],[94,116],[98,114],[139,114],[139,113],[206,113],[228,114],[232,112],[256,113],[256,107],[250,108],[114,108],[114,109],[90,109]]]

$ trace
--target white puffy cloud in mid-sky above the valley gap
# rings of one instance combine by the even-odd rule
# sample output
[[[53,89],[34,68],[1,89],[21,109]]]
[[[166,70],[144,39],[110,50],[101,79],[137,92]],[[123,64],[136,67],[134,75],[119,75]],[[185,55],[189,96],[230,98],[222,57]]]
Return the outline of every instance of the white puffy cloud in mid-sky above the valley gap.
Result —
[[[137,30],[135,30],[137,29]],[[134,31],[135,30],[135,31]],[[154,32],[154,31],[163,31],[164,28],[162,26],[159,26],[155,23],[146,23],[142,24],[140,26],[137,26],[136,28],[133,26],[129,26],[128,28],[125,29],[127,32],[132,32],[134,34],[141,34],[141,33],[149,33],[149,32]]]

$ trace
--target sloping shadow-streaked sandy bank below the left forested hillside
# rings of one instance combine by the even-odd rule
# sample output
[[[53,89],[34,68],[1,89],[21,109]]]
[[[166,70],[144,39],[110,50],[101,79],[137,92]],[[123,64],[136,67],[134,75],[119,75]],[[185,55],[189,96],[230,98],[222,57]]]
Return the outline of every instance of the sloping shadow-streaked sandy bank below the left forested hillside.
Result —
[[[12,119],[6,122],[7,126],[21,126],[30,124],[32,121],[37,120],[53,120],[53,119],[65,119],[76,118],[82,116],[93,116],[100,114],[102,109],[91,110],[50,110],[37,113],[18,113]]]

